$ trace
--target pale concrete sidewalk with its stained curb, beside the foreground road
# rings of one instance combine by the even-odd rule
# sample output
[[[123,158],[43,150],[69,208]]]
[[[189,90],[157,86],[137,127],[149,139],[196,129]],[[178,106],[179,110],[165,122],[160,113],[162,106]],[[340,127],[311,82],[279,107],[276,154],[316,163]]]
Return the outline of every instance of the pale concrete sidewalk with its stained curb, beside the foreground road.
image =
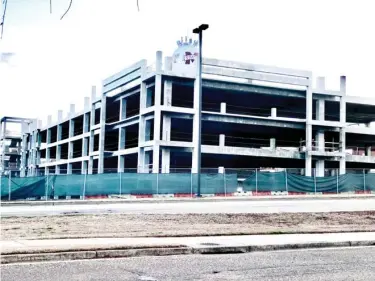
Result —
[[[375,232],[1,241],[1,263],[375,246]]]

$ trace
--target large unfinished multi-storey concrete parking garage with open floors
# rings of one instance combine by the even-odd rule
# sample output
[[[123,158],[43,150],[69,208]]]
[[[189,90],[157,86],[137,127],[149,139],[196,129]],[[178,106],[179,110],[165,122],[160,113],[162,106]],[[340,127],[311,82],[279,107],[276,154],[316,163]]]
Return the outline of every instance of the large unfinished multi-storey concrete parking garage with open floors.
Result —
[[[196,43],[179,41],[92,87],[84,110],[23,136],[24,176],[134,169],[197,172]],[[203,60],[202,167],[296,168],[312,176],[375,168],[375,99],[313,83],[310,71]],[[313,86],[316,84],[316,86]],[[358,93],[360,95],[360,93]],[[316,168],[316,169],[314,169]]]

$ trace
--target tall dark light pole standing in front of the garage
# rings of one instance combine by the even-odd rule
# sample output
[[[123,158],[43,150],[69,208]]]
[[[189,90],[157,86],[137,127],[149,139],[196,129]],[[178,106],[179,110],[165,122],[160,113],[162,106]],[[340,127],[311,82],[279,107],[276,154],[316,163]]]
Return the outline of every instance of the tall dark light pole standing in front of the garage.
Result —
[[[197,149],[197,196],[201,197],[201,134],[202,134],[202,35],[203,31],[208,29],[208,24],[201,24],[193,29],[193,33],[199,35],[199,53],[197,67],[197,87],[198,87],[198,146]]]

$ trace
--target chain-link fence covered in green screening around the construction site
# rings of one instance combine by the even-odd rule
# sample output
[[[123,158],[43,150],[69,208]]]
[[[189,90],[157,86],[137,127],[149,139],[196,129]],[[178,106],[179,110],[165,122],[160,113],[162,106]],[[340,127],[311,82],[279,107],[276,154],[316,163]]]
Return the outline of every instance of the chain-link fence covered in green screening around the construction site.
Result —
[[[69,174],[67,174],[69,172]],[[375,193],[370,170],[326,169],[324,177],[302,175],[301,169],[170,169],[163,173],[137,173],[136,169],[107,169],[103,174],[60,170],[33,177],[0,177],[1,200],[86,199],[95,197],[195,197],[242,195],[297,195]]]

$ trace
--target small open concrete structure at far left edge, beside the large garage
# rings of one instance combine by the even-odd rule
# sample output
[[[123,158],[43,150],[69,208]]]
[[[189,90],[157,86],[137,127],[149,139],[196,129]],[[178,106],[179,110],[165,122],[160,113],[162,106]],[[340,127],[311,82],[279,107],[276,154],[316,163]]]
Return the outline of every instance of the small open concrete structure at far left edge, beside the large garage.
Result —
[[[22,135],[34,121],[9,116],[0,119],[0,176],[20,175]]]

